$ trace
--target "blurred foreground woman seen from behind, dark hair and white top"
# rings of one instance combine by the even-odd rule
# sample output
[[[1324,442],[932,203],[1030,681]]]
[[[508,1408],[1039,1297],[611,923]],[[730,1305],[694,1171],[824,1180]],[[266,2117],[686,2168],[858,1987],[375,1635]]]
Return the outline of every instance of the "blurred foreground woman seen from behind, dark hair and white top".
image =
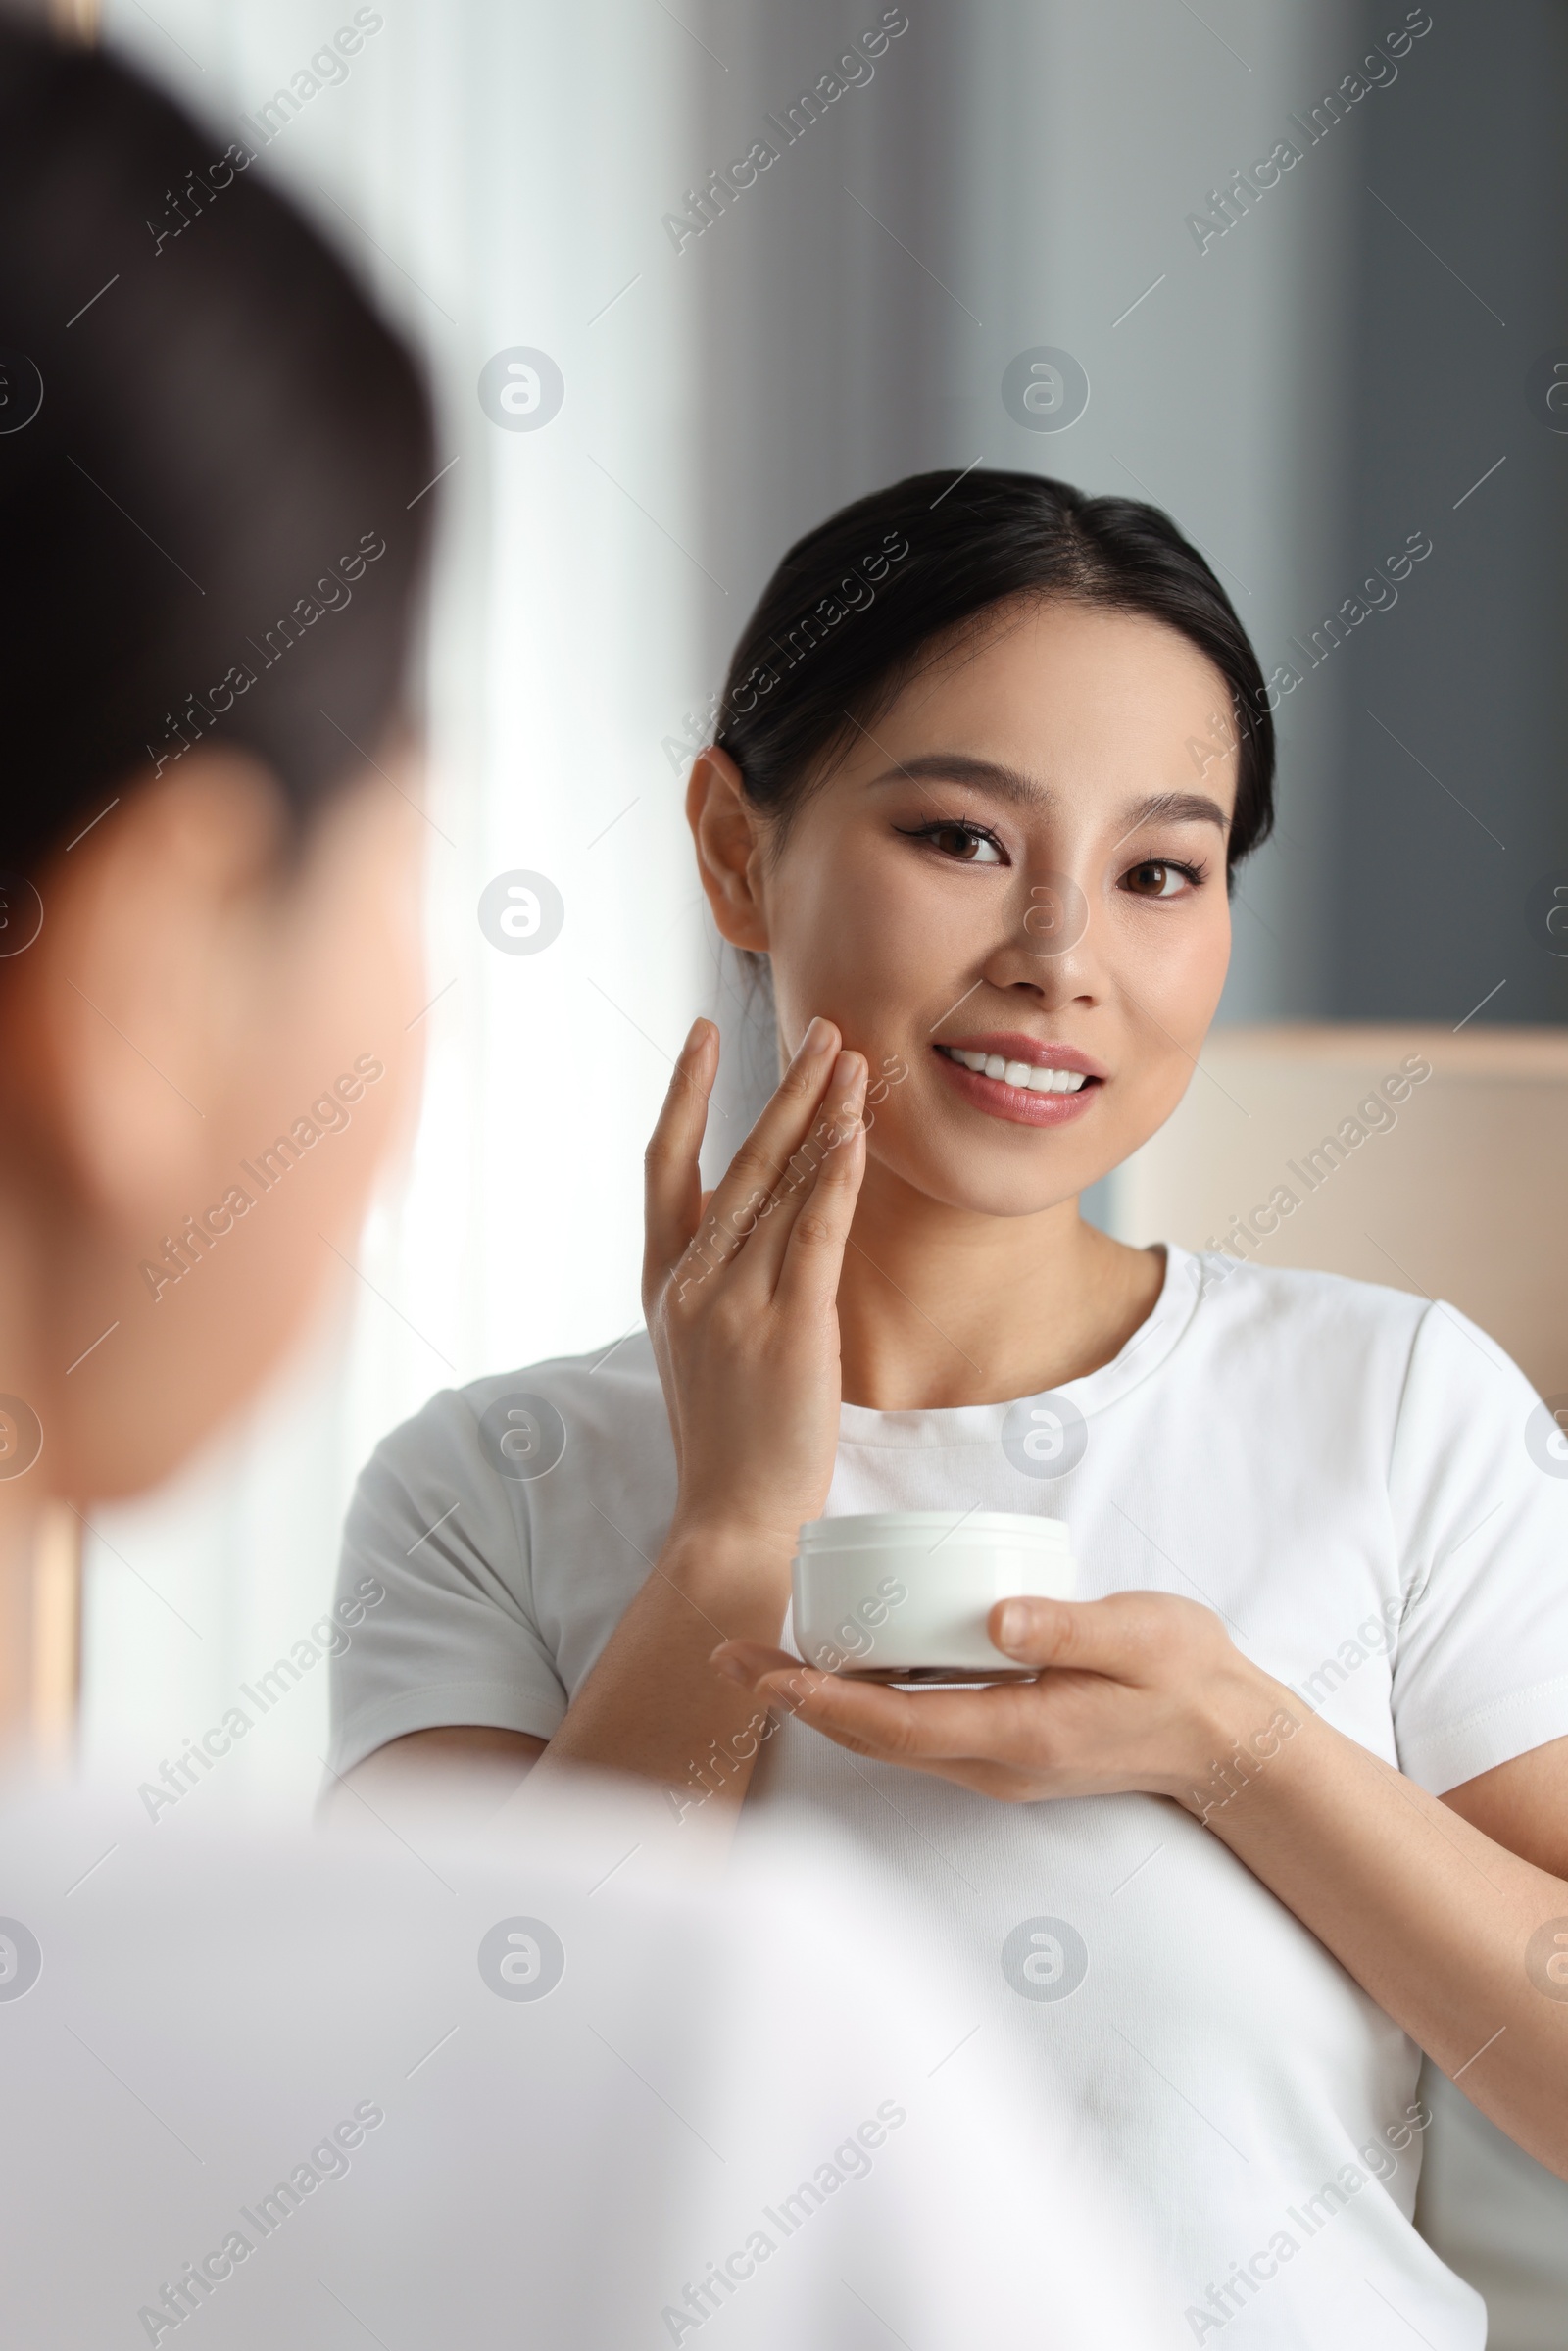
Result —
[[[169,188],[188,221],[150,245]],[[45,1498],[143,1491],[249,1401],[407,1105],[440,458],[407,350],[244,153],[214,167],[134,75],[5,26],[0,322],[5,1690]],[[355,1594],[322,1632],[364,1622]],[[1095,2193],[1009,2161],[976,2083],[922,2088],[926,1980],[886,2001],[853,1890],[778,1867],[677,1895],[592,1808],[503,1871],[322,1850],[223,1763],[268,1735],[247,1695],[200,1747],[167,1726],[167,1799],[136,1768],[24,1791],[7,1754],[7,2342],[167,2344],[200,2313],[242,2346],[618,2351],[729,2299],[755,2351],[849,2351],[863,2302],[952,2342],[976,2283],[945,2222],[999,2337],[1046,2309],[1103,2351],[1171,2339]],[[865,1925],[846,1965],[811,1949],[823,1907]],[[759,2208],[823,2175],[844,2196],[771,2262]],[[1065,2198],[1119,2290],[1013,2259],[1009,2193]]]

